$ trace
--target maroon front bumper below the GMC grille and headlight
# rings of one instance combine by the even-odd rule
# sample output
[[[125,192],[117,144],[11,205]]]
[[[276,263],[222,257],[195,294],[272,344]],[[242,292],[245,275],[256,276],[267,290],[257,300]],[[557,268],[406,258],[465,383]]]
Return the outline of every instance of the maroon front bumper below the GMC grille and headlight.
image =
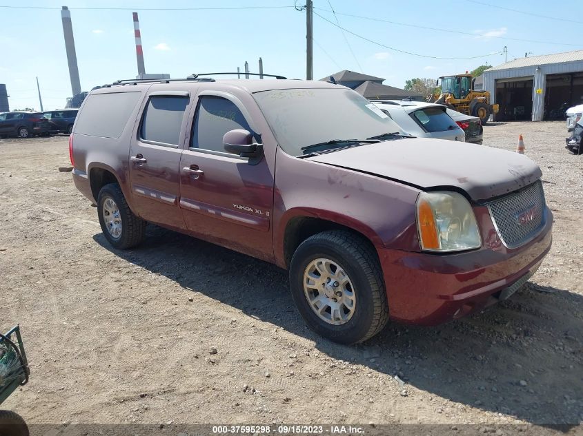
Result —
[[[391,318],[437,325],[508,298],[551,249],[553,215],[548,208],[545,213],[540,233],[517,249],[492,238],[483,238],[488,247],[457,254],[379,249]]]

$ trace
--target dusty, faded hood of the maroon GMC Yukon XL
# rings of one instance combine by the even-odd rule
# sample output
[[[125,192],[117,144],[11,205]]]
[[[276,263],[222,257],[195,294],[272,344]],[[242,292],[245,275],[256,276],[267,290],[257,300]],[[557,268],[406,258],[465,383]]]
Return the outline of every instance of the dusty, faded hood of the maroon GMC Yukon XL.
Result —
[[[473,200],[507,194],[542,176],[538,165],[522,154],[429,138],[367,144],[306,160],[375,174],[420,189],[457,187]]]

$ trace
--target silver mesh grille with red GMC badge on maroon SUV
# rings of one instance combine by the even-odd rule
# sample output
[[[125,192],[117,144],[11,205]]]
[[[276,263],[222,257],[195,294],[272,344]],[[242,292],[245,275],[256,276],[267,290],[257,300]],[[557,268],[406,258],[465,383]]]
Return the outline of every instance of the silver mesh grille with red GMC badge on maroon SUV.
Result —
[[[540,180],[497,200],[486,203],[502,242],[519,247],[544,226],[546,204]]]

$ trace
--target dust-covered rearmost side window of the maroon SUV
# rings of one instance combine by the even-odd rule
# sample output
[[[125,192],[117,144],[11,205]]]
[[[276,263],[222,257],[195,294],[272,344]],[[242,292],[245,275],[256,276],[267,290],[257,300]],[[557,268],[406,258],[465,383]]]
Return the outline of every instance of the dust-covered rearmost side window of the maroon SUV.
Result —
[[[90,94],[79,111],[75,133],[119,138],[140,96],[141,92]]]

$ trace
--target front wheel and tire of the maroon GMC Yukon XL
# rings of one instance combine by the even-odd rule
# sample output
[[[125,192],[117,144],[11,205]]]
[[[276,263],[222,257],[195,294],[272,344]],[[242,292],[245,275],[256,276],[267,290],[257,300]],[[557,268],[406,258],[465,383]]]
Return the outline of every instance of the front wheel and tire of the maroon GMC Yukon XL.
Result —
[[[317,274],[314,265],[322,260],[329,260],[346,273],[348,283],[338,284],[335,278],[330,287],[326,274],[319,276],[322,282],[314,282],[310,288],[308,281]],[[323,262],[322,264],[325,264]],[[322,265],[320,266],[322,268]],[[326,269],[324,267],[324,269]],[[313,272],[310,272],[313,271]],[[338,273],[336,269],[336,273]],[[324,231],[304,240],[299,245],[290,263],[289,269],[290,289],[293,300],[306,324],[329,340],[339,344],[356,344],[363,342],[379,333],[388,322],[388,304],[381,267],[377,253],[370,247],[368,241],[348,231]],[[346,279],[344,279],[346,282]],[[306,282],[306,288],[304,288]],[[323,284],[327,282],[328,284]],[[323,292],[315,292],[316,287],[322,286]],[[340,290],[342,296],[339,303],[335,300],[334,293]],[[350,293],[351,291],[351,293]],[[330,298],[330,294],[332,295]],[[346,295],[353,295],[353,302],[346,300]],[[314,304],[308,301],[322,298],[319,308],[321,315],[317,315]],[[346,304],[346,302],[350,304]],[[335,318],[332,309],[328,311],[326,304],[340,304],[342,309],[335,311],[336,315],[344,317],[344,320],[324,320]],[[348,306],[352,305],[352,310]],[[349,313],[346,313],[346,309]],[[335,322],[336,324],[333,324]]]

